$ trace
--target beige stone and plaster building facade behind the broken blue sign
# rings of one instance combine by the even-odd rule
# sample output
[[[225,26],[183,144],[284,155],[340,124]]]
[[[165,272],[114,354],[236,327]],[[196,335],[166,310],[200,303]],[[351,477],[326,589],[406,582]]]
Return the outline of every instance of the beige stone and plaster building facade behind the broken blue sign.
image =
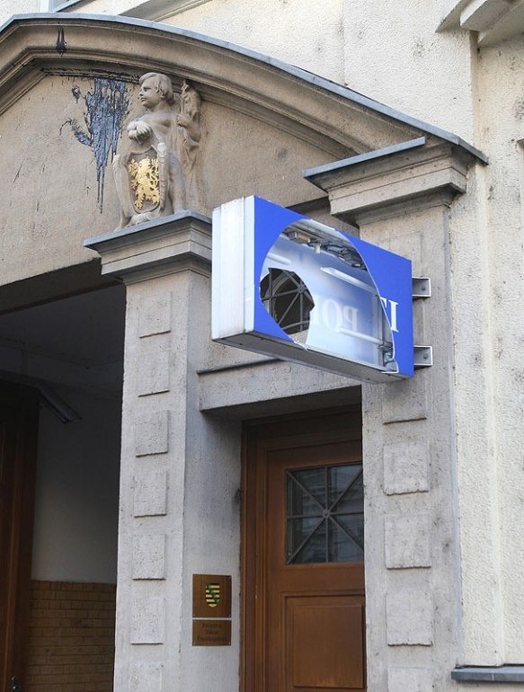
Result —
[[[4,4],[1,692],[524,687],[522,6]],[[432,365],[213,342],[250,195],[411,260]]]

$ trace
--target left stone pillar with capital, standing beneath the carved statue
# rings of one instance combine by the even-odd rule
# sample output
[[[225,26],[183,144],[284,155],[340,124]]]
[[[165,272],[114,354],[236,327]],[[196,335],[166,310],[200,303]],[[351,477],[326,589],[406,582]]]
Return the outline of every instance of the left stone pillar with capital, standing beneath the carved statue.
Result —
[[[231,647],[191,646],[192,572],[233,574],[236,589],[238,572],[235,436],[198,410],[209,219],[183,212],[86,245],[127,287],[114,688],[235,688],[237,618]]]

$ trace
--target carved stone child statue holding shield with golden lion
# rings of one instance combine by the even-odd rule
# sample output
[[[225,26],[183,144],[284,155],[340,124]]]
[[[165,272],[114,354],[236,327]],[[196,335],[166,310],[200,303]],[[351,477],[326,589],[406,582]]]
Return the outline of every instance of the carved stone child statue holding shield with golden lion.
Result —
[[[140,77],[145,113],[129,122],[129,146],[116,155],[113,173],[120,198],[117,230],[187,208],[186,192],[195,185],[200,143],[200,96],[187,83],[177,98],[166,75]]]

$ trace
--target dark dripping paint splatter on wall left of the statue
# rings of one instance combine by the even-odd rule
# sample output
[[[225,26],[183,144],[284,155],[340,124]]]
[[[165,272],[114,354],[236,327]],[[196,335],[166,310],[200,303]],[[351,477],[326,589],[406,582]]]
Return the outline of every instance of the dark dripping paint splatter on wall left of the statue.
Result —
[[[71,90],[78,102],[80,89],[75,86]],[[102,213],[103,186],[105,170],[111,155],[116,154],[122,122],[129,112],[129,96],[126,83],[118,79],[95,78],[93,92],[87,92],[84,97],[86,111],[84,122],[87,133],[76,120],[67,120],[73,129],[75,138],[85,146],[93,149],[96,161],[96,181],[98,183],[97,202]]]

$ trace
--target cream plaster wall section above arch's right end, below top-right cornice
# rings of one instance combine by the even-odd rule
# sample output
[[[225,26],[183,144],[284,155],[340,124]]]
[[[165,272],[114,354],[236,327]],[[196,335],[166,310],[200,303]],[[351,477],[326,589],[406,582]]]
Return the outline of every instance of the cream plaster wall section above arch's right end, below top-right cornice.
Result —
[[[475,143],[469,37],[436,33],[440,4],[344,4],[344,82]]]

